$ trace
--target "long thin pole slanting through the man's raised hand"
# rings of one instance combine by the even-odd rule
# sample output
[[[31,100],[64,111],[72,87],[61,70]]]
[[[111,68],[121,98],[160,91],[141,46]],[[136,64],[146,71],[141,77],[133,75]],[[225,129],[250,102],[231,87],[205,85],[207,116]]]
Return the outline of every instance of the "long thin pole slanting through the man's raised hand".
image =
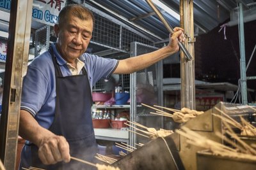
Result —
[[[152,10],[156,13],[156,15],[159,17],[159,19],[163,22],[164,26],[166,27],[166,29],[172,34],[173,33],[173,28],[171,25],[168,24],[168,22],[164,19],[163,15],[161,14],[161,12],[156,8],[156,6],[154,5],[154,3],[152,3],[151,0],[146,0],[148,5],[152,8]],[[184,52],[185,56],[186,56],[186,60],[192,60],[193,58],[191,57],[190,53],[188,52],[188,50],[186,49],[186,47],[180,43],[179,43],[179,47],[182,50],[182,52]]]

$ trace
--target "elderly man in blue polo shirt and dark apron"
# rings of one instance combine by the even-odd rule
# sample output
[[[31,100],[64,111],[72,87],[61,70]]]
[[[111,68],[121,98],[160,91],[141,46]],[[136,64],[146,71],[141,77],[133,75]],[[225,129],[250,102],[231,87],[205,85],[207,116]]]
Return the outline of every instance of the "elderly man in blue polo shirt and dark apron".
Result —
[[[168,46],[124,60],[85,53],[93,32],[93,14],[79,4],[60,11],[49,51],[28,66],[22,87],[19,134],[26,139],[20,169],[89,169],[70,156],[92,161],[96,141],[92,125],[92,87],[111,74],[129,74],[179,50],[183,29],[174,29]]]

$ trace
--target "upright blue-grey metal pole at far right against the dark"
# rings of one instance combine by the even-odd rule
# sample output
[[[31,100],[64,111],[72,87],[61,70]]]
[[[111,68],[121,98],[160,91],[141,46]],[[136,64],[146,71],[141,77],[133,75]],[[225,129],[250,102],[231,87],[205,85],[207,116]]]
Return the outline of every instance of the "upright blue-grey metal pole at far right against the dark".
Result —
[[[241,75],[242,104],[248,104],[247,85],[246,85],[245,47],[244,47],[244,16],[243,16],[242,3],[239,3],[239,41],[240,41],[240,75]]]

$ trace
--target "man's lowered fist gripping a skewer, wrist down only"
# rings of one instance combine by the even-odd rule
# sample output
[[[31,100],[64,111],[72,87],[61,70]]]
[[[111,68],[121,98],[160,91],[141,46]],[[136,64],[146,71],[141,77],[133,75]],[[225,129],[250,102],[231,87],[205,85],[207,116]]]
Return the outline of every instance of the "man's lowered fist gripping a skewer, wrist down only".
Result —
[[[69,145],[63,136],[50,136],[42,139],[39,146],[38,157],[45,165],[56,164],[57,162],[70,161]]]

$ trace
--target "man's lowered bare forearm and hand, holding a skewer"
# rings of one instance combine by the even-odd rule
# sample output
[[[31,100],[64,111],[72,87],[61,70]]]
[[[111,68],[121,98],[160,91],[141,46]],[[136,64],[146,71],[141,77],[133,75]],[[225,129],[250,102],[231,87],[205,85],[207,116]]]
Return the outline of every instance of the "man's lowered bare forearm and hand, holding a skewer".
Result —
[[[63,136],[57,136],[40,126],[26,110],[20,110],[19,134],[38,146],[38,157],[43,164],[70,161],[69,145]]]

